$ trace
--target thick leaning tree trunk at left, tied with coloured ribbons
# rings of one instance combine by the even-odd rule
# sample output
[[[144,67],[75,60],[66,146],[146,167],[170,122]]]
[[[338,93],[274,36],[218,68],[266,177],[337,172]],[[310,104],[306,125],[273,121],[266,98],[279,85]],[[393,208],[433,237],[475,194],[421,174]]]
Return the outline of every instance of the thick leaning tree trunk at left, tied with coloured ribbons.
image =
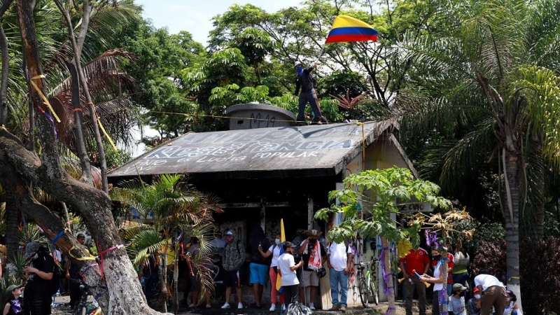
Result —
[[[43,92],[43,94],[45,92],[43,80],[33,79],[40,75],[42,71],[38,55],[33,8],[29,1],[18,0],[18,22],[29,80],[34,80],[37,85],[36,90],[31,92],[31,102],[33,102],[34,108],[43,109],[43,102],[38,97],[39,92]],[[41,114],[36,116],[36,123],[38,137],[43,147],[41,160],[34,152],[27,151],[22,142],[13,134],[0,129],[0,172],[8,176],[8,181],[15,187],[13,190],[18,194],[18,204],[21,209],[35,219],[50,239],[64,230],[62,220],[32,198],[28,186],[22,180],[25,178],[26,181],[34,183],[45,193],[78,210],[83,216],[88,230],[97,241],[101,262],[99,267],[102,267],[106,287],[109,291],[108,294],[102,296],[102,302],[104,298],[109,298],[109,306],[106,307],[104,312],[111,315],[158,314],[148,308],[146,298],[142,294],[140,283],[126,251],[123,248],[116,247],[120,244],[120,237],[113,222],[109,196],[101,190],[72,179],[71,176],[66,174],[59,160],[52,122]],[[64,235],[62,239],[56,242],[56,245],[64,251],[69,251],[70,248],[75,246],[73,241],[73,237]],[[80,249],[73,248],[71,252],[80,251]],[[96,269],[90,268],[87,270],[88,283],[98,279],[95,276]]]

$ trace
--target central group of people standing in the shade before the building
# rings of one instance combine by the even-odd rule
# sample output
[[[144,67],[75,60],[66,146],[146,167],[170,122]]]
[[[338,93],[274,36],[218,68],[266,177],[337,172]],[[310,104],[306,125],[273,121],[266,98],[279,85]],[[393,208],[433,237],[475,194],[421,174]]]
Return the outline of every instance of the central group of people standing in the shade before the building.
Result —
[[[241,286],[246,279],[255,301],[253,308],[260,309],[265,303],[268,304],[262,296],[265,286],[269,286],[269,311],[276,310],[281,295],[283,309],[291,302],[300,302],[315,310],[314,300],[319,293],[320,278],[327,272],[324,265],[330,273],[333,304],[330,310],[346,311],[351,248],[347,244],[335,242],[325,244],[325,238],[318,230],[297,230],[292,241],[285,243],[281,242],[280,237],[276,235],[271,244],[259,226],[253,228],[247,248],[234,230],[225,231],[223,242],[221,234],[211,241],[215,245],[214,256],[218,255],[214,262],[219,265],[218,270],[223,270],[220,278],[223,280],[225,301],[221,308],[229,309],[235,305],[238,309],[244,308]],[[245,268],[246,265],[248,267]],[[279,287],[282,288],[282,294],[279,293]],[[197,307],[196,290],[191,286],[190,291],[189,306]],[[232,304],[231,295],[234,292],[237,304]],[[185,296],[188,296],[188,292]],[[211,307],[208,301],[206,307]]]

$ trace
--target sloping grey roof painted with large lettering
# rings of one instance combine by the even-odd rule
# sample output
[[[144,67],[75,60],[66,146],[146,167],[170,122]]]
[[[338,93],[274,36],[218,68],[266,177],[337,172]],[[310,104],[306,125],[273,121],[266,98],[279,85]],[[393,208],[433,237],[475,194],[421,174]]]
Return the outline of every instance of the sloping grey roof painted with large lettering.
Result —
[[[188,133],[109,173],[110,177],[204,174],[217,178],[334,176],[391,122]],[[269,176],[272,174],[268,174]]]

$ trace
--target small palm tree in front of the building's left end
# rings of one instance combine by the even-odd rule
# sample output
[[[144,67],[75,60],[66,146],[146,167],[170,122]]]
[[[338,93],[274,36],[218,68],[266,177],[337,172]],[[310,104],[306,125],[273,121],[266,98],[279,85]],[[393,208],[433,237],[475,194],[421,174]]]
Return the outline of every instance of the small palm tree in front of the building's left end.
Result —
[[[163,298],[163,311],[167,312],[167,254],[171,248],[174,253],[181,252],[181,239],[197,237],[200,251],[186,260],[199,270],[203,293],[214,287],[211,270],[209,240],[214,227],[212,214],[221,212],[216,202],[203,195],[183,180],[181,175],[164,174],[153,179],[148,185],[141,180],[123,183],[123,188],[111,190],[113,200],[134,207],[142,218],[153,218],[153,225],[141,226],[127,232],[130,238],[129,254],[134,265],[143,265],[151,256],[160,258],[160,290]],[[179,255],[174,255],[174,311],[179,307],[177,299],[177,276],[179,274]],[[200,295],[203,297],[204,294]]]

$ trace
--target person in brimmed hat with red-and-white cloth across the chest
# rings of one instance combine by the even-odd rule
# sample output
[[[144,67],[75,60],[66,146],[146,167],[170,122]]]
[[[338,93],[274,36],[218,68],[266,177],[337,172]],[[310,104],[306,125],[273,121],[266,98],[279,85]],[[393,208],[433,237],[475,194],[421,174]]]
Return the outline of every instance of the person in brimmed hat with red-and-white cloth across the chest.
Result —
[[[302,281],[300,283],[300,287],[302,288],[300,292],[300,302],[304,302],[305,290],[309,288],[308,306],[311,311],[315,310],[313,301],[319,287],[317,270],[323,266],[322,258],[327,255],[325,247],[318,241],[318,237],[320,237],[321,234],[322,233],[318,230],[305,231],[305,236],[307,238],[302,241],[300,248],[297,250],[297,253],[302,255],[303,262]]]

